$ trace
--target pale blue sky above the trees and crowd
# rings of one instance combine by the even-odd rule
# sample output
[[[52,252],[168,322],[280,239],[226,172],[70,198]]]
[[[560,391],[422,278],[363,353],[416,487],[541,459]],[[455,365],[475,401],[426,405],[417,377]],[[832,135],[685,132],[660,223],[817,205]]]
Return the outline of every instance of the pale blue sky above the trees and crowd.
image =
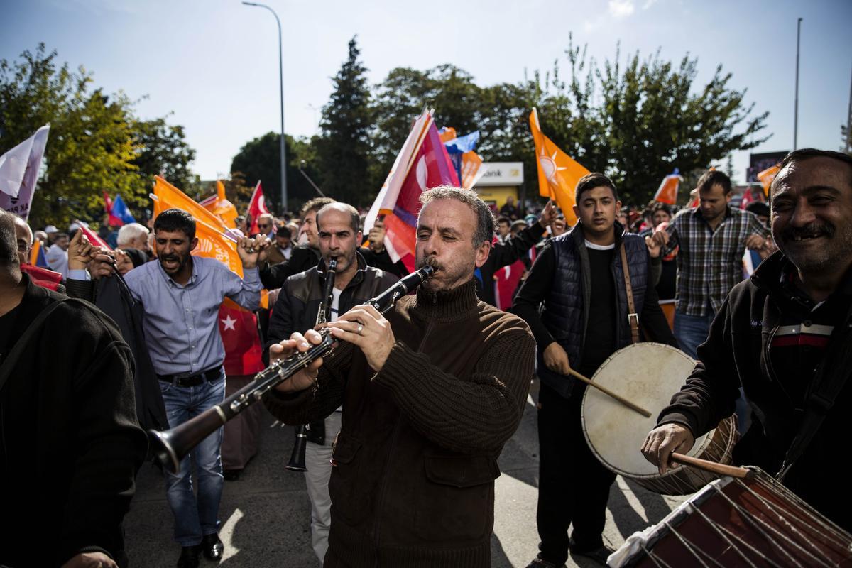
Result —
[[[597,60],[636,50],[699,60],[699,82],[722,65],[769,111],[769,141],[792,148],[796,20],[802,17],[798,146],[838,149],[852,77],[852,2],[599,0],[488,3],[267,0],[283,27],[285,129],[312,135],[331,77],[358,35],[376,83],[396,66],[452,63],[481,85],[566,61],[568,32]],[[239,0],[3,0],[0,58],[44,42],[95,84],[133,99],[142,118],[170,114],[186,128],[202,179],[226,175],[246,141],[279,130],[278,36],[267,10]],[[144,98],[143,98],[144,97]],[[487,160],[487,156],[484,156]],[[734,155],[743,181],[748,152]]]

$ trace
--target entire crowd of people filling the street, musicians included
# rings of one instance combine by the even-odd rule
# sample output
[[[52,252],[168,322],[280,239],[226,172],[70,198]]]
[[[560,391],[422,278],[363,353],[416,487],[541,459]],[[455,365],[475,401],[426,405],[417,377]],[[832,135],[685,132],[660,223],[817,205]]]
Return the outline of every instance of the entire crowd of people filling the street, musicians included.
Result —
[[[267,362],[306,351],[320,330],[339,341],[264,398],[307,437],[304,522],[320,565],[489,565],[497,458],[536,379],[529,567],[558,568],[569,551],[605,564],[615,473],[584,438],[586,385],[573,373],[593,376],[640,341],[697,361],[680,392],[662,393],[671,404],[636,448],[660,473],[735,411],[735,461],[778,472],[852,529],[819,479],[850,396],[852,158],[800,150],[780,165],[771,215],[763,202],[731,206],[717,170],[699,179],[699,204],[679,210],[625,208],[607,176],[586,175],[573,227],[552,202],[524,216],[514,201],[495,211],[475,192],[429,189],[415,256],[435,272],[388,313],[367,301],[409,269],[385,248],[381,218],[365,234],[364,215],[333,198],[261,215],[254,234],[238,217],[241,277],[193,255],[196,222],[181,209],[104,231],[109,247],[78,223],[33,232],[0,213],[0,491],[19,519],[0,565],[127,564],[122,519],[144,429],[176,427],[250,380],[226,377],[226,299],[257,314]],[[30,264],[36,239],[52,272]],[[496,274],[517,262],[511,306],[498,309]],[[54,341],[57,329],[71,331]],[[256,451],[260,410],[164,471],[178,566],[222,558],[224,482]],[[51,546],[25,544],[38,529]]]

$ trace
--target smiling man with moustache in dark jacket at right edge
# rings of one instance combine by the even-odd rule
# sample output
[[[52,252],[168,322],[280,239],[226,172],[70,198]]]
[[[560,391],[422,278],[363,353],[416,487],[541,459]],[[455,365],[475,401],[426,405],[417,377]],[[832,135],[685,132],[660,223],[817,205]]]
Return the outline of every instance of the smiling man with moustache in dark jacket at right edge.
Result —
[[[827,468],[846,444],[852,386],[852,158],[787,154],[771,187],[780,249],[734,286],[699,347],[699,363],[659,416],[642,453],[670,468],[672,451],[734,410],[740,387],[753,410],[736,462],[778,472],[784,485],[846,531],[849,490]]]

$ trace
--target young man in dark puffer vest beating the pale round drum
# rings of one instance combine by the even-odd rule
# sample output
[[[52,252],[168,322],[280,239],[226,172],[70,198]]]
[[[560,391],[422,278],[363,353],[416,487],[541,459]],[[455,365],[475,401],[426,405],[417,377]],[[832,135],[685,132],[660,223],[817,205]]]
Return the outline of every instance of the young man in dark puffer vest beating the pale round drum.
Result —
[[[515,313],[527,320],[538,343],[541,379],[541,542],[529,568],[561,566],[569,546],[574,554],[602,564],[612,552],[603,546],[602,532],[615,474],[586,444],[580,420],[585,384],[567,376],[569,370],[591,376],[614,351],[636,341],[638,330],[631,329],[630,320],[636,327],[642,324],[653,340],[676,345],[657,293],[648,285],[644,241],[615,221],[621,202],[613,182],[602,174],[585,175],[577,184],[576,203],[579,222],[544,246],[515,301]]]

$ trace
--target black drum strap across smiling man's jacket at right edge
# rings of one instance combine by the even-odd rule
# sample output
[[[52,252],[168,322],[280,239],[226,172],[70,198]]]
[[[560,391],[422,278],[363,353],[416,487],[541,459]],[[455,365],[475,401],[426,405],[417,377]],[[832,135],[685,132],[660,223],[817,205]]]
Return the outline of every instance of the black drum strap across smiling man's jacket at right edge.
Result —
[[[848,329],[850,325],[852,325],[852,322],[847,320],[843,328]],[[835,345],[838,344],[840,344],[838,347],[841,347],[839,349],[839,360],[834,360],[831,364],[826,364],[828,359],[826,357],[820,364],[821,377],[819,382],[817,382],[817,387],[811,391],[808,397],[807,408],[802,418],[802,426],[799,427],[796,438],[793,439],[790,447],[787,448],[784,462],[781,464],[778,474],[775,475],[775,478],[779,481],[784,481],[787,472],[790,471],[790,468],[797,462],[798,458],[802,456],[804,450],[807,450],[810,441],[814,439],[815,434],[822,425],[822,421],[828,415],[828,411],[832,409],[834,400],[838,398],[840,391],[843,390],[843,385],[846,384],[846,380],[849,377],[849,365],[852,364],[852,353],[850,353],[852,350],[843,348],[846,341],[838,341]],[[834,352],[838,353],[838,349],[836,348]],[[826,371],[830,372],[831,370],[844,371],[834,372],[826,376]]]

